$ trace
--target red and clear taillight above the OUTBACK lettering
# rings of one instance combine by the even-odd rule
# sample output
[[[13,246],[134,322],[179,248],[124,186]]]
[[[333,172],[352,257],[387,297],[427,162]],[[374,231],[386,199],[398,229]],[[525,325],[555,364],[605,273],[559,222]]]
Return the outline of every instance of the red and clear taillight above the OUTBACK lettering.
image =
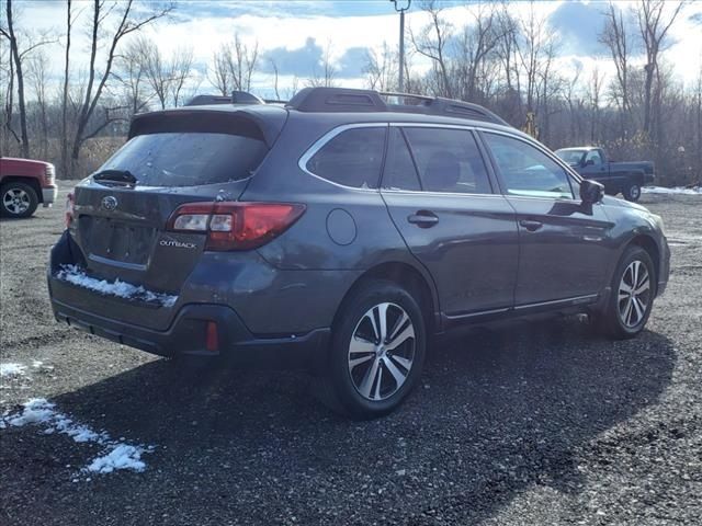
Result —
[[[205,250],[249,250],[287,230],[305,211],[291,203],[190,203],[168,220],[174,232],[207,235]]]

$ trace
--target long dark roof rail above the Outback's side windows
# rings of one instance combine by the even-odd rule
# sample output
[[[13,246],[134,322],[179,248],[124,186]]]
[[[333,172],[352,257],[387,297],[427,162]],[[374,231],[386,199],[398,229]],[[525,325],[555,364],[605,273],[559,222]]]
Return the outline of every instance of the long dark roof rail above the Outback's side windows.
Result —
[[[389,102],[389,100],[397,102]],[[398,112],[469,118],[509,126],[489,110],[471,102],[412,93],[346,88],[305,88],[285,107],[299,112]]]

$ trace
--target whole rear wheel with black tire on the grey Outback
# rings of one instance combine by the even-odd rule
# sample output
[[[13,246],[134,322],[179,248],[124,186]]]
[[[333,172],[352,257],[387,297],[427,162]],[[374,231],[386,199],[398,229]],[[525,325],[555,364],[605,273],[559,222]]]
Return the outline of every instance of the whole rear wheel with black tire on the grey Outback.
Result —
[[[407,290],[385,279],[363,283],[344,300],[332,327],[319,378],[322,402],[358,420],[392,412],[421,376],[426,327]]]

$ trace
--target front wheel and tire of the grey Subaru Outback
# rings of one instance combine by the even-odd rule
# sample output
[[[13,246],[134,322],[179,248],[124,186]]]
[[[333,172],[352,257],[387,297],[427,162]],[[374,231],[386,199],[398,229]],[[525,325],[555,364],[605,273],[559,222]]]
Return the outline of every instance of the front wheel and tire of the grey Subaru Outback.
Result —
[[[615,340],[636,336],[644,330],[656,296],[656,268],[641,247],[632,245],[616,265],[607,306],[599,313],[601,331]]]

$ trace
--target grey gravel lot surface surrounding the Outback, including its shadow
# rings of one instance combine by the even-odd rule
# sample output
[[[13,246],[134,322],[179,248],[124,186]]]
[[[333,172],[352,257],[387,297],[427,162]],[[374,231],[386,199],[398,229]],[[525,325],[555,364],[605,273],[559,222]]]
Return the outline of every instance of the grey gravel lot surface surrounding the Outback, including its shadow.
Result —
[[[422,387],[364,423],[328,412],[304,373],[186,374],[59,325],[44,273],[63,206],[3,221],[0,362],[19,369],[0,412],[43,397],[154,448],[141,472],[92,473],[104,444],[4,424],[0,524],[700,524],[702,196],[643,203],[672,274],[641,338],[581,318],[475,330],[434,345]]]

